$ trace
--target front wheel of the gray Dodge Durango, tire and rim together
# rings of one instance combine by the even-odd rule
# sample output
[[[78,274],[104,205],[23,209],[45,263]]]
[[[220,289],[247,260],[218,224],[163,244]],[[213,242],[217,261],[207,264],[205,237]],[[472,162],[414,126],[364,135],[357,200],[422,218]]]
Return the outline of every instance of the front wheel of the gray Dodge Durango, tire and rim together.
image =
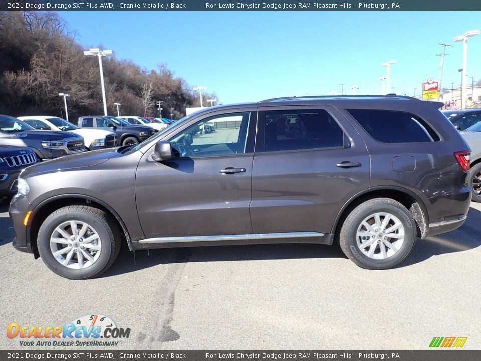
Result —
[[[117,224],[103,210],[63,207],[40,226],[38,249],[45,264],[58,275],[85,279],[100,275],[120,251]]]

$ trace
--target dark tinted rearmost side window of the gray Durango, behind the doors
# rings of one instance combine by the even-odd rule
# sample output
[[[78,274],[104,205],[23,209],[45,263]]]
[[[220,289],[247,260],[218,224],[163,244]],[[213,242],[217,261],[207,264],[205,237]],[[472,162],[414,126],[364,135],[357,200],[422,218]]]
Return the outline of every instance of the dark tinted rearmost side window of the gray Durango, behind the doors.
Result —
[[[423,119],[412,113],[372,109],[346,110],[370,136],[383,143],[419,143],[439,140],[434,130]]]

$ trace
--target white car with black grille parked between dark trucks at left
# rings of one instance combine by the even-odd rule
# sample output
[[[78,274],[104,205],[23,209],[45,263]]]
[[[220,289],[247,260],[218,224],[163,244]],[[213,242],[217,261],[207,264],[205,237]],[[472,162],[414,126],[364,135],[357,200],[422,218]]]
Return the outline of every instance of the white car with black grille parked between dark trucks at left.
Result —
[[[29,115],[17,117],[24,123],[38,130],[69,131],[84,138],[88,150],[97,150],[115,146],[117,135],[111,130],[80,129],[65,119],[48,115]]]

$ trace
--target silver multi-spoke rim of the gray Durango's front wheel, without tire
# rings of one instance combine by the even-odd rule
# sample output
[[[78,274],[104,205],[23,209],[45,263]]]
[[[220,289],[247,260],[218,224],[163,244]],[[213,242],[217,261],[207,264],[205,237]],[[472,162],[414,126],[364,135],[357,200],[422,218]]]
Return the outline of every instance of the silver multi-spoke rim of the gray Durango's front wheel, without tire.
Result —
[[[63,266],[83,269],[97,261],[102,250],[102,241],[97,231],[88,223],[67,221],[52,232],[50,250]]]

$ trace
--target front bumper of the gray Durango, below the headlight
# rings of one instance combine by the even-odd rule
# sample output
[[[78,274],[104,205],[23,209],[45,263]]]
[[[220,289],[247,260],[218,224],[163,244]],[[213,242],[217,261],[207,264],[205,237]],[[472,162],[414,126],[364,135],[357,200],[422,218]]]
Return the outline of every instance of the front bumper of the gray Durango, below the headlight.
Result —
[[[24,225],[24,219],[27,212],[32,211],[33,207],[27,197],[14,196],[10,203],[9,215],[14,226],[15,238],[12,241],[14,248],[21,252],[34,253],[30,240],[27,238],[29,228]],[[32,222],[32,217],[29,224]]]

